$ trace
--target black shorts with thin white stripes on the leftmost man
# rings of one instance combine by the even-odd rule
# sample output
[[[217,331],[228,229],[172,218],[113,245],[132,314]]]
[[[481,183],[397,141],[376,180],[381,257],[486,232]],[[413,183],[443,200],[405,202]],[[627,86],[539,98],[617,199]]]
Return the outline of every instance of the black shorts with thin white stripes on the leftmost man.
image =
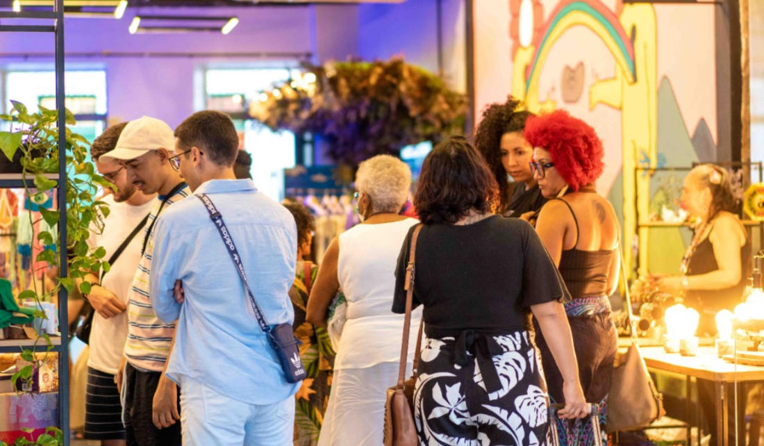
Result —
[[[114,375],[88,367],[88,390],[85,398],[85,438],[122,440],[122,405]]]

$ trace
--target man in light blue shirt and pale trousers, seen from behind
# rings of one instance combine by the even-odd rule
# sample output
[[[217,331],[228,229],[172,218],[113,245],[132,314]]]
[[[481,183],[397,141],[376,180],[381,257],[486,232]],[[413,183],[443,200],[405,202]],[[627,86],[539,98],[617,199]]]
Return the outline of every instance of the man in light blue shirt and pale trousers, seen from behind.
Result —
[[[251,179],[235,179],[231,118],[198,112],[175,136],[170,163],[218,208],[267,322],[293,322],[296,225]],[[193,196],[177,202],[154,234],[150,296],[157,317],[178,321],[167,377],[182,388],[184,446],[291,444],[299,383],[286,382],[206,207]]]

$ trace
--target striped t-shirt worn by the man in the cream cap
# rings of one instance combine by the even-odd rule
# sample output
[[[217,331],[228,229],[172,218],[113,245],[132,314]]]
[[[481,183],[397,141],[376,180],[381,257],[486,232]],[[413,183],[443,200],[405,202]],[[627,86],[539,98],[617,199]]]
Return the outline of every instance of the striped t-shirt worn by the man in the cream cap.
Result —
[[[157,216],[174,202],[178,202],[191,191],[183,186],[167,199],[160,208],[164,197],[160,196],[149,214],[144,237],[148,238],[146,251],[135,271],[133,286],[128,292],[128,340],[125,342],[125,356],[132,367],[144,372],[161,372],[170,356],[174,324],[165,324],[154,314],[149,297],[148,280],[151,274],[151,254],[154,253],[154,221]],[[151,228],[151,234],[148,232]]]

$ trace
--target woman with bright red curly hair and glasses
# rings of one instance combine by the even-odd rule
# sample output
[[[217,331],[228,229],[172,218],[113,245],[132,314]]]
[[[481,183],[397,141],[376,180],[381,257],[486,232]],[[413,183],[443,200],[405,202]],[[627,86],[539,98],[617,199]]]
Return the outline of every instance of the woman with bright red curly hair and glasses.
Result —
[[[619,225],[613,206],[594,190],[602,174],[604,150],[594,128],[558,110],[529,118],[524,136],[533,145],[534,176],[542,194],[551,199],[536,222],[536,231],[560,271],[571,302],[565,312],[571,325],[579,378],[588,402],[605,414],[610,374],[618,349],[618,334],[608,296],[618,284]],[[542,333],[536,331],[549,397],[563,402],[562,375]],[[601,416],[604,431],[605,417]],[[565,435],[565,426],[558,432]],[[577,438],[560,444],[591,446],[591,422],[574,431]]]

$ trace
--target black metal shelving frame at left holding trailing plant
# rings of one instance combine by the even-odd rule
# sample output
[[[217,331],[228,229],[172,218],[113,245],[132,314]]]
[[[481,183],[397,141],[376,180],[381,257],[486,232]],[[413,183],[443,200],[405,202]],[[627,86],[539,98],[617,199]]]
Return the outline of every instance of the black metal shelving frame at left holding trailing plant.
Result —
[[[48,19],[53,20],[53,26],[41,25],[3,25],[0,26],[0,32],[52,32],[55,34],[55,60],[56,60],[56,108],[63,110],[66,99],[64,91],[64,52],[63,52],[63,0],[53,2],[53,11],[21,11],[6,12],[0,11],[0,18],[19,18],[19,19]],[[61,112],[58,114],[58,141],[60,150],[66,150],[66,115]],[[58,179],[59,187],[57,190],[57,199],[59,203],[59,242],[62,249],[59,250],[59,276],[68,276],[66,259],[66,156],[61,154],[59,157],[58,175],[53,175],[53,179]],[[34,186],[31,179],[27,180],[31,186]],[[0,188],[21,188],[24,187],[24,180],[21,175],[2,175],[0,176]],[[63,444],[70,444],[69,429],[69,320],[66,309],[67,293],[66,289],[61,287],[58,294],[58,320],[59,331],[61,333],[60,342],[56,342],[53,351],[58,353],[58,424],[63,431]],[[34,344],[34,341],[0,341],[0,352],[18,352],[21,347],[28,347]]]

